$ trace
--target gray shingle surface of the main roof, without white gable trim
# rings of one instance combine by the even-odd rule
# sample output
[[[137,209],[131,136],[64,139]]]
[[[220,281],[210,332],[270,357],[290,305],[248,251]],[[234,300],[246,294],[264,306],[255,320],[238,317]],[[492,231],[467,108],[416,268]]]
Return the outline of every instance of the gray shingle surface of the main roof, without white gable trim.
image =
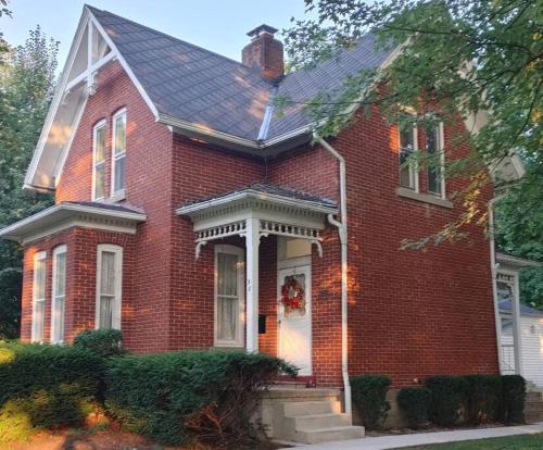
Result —
[[[318,91],[337,90],[344,76],[377,67],[389,52],[375,51],[374,38],[310,71],[288,74],[274,87],[260,73],[180,39],[108,11],[88,7],[130,66],[159,113],[217,132],[257,140],[270,93],[303,103]],[[308,125],[301,104],[274,114],[265,136]]]

